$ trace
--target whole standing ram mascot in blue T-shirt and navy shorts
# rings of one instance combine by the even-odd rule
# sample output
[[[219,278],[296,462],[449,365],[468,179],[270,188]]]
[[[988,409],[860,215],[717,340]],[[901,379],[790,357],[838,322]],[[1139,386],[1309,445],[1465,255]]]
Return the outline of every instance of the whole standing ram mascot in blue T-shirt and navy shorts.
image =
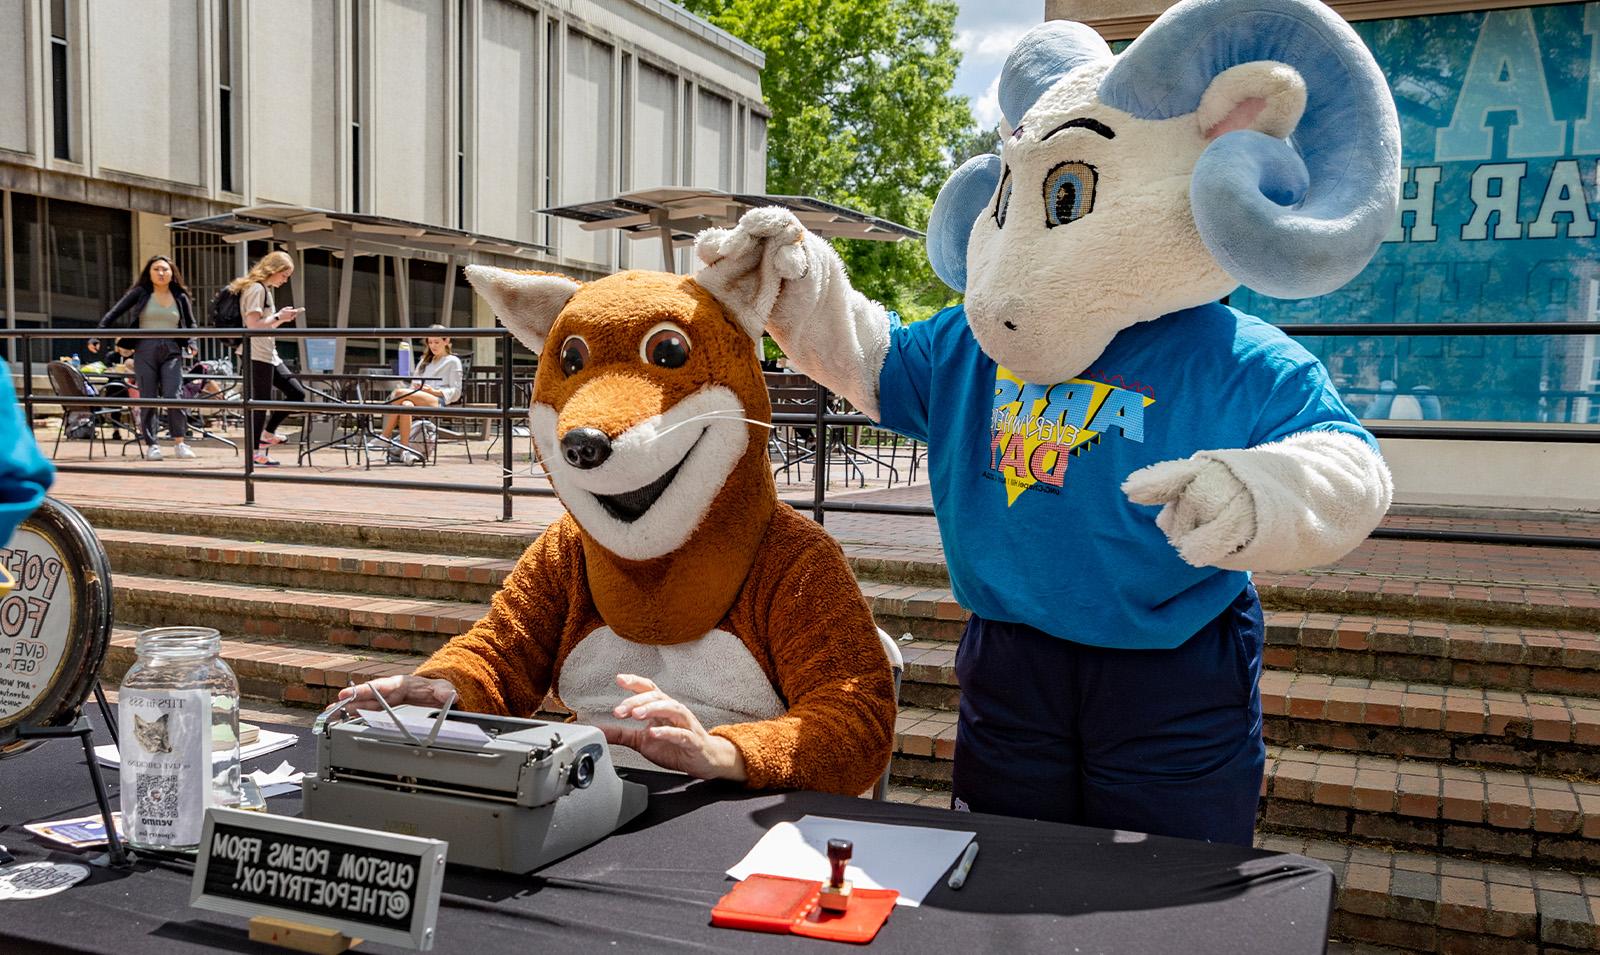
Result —
[[[1320,3],[1186,0],[1117,56],[1035,27],[1000,106],[1000,155],[928,224],[965,306],[893,325],[782,210],[702,234],[698,280],[928,443],[971,611],[955,806],[1248,845],[1250,571],[1338,560],[1390,478],[1323,366],[1219,299],[1362,270],[1395,216],[1394,102]]]

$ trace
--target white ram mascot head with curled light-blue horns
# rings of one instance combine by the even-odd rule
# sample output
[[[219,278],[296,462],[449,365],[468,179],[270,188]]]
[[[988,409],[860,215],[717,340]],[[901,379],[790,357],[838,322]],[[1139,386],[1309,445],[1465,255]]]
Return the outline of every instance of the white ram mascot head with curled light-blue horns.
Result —
[[[928,224],[982,349],[1026,381],[1083,371],[1138,322],[1238,285],[1333,291],[1395,216],[1400,126],[1355,32],[1302,0],[1189,0],[1122,54],[1051,21],[1000,77],[1000,155]]]

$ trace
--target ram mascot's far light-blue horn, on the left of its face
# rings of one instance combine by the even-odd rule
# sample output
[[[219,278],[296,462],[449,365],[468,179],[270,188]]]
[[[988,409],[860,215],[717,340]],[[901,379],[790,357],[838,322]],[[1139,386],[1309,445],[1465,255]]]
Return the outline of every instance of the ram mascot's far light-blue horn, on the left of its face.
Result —
[[[1000,112],[1003,131],[1022,122],[1027,107],[1074,69],[1106,59],[1110,46],[1093,29],[1053,19],[1029,30],[1011,50],[1000,72]],[[984,214],[1000,186],[1000,157],[994,154],[966,160],[939,189],[928,216],[928,262],[955,291],[966,288],[966,242],[973,222]]]

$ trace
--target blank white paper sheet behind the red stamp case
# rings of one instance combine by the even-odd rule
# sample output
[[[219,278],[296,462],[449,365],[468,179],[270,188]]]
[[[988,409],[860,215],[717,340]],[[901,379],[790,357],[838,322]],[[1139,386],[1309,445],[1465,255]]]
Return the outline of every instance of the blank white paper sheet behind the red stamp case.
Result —
[[[854,843],[845,877],[861,888],[899,891],[899,905],[920,905],[933,885],[960,857],[973,832],[928,829],[923,825],[886,825],[856,822],[830,816],[805,816],[798,822],[779,822],[766,830],[728,875],[744,880],[757,872],[814,878],[827,881],[827,840],[848,838]]]

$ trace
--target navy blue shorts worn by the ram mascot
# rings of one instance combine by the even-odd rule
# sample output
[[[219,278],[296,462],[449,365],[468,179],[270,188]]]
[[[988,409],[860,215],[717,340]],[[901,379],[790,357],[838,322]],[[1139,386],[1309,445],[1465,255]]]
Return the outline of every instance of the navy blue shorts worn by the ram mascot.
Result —
[[[1250,584],[1173,649],[1107,649],[973,616],[955,653],[957,808],[1248,846],[1261,771]]]

